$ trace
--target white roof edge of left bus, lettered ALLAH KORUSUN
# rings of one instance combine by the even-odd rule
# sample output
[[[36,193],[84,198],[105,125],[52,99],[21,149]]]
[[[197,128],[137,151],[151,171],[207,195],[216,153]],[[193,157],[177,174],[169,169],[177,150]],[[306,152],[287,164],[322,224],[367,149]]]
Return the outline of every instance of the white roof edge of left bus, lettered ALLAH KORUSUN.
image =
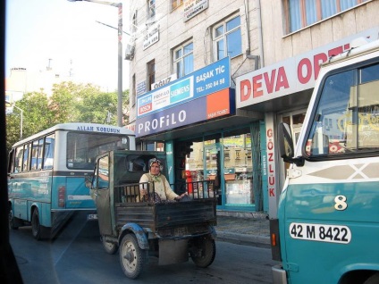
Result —
[[[70,122],[70,123],[60,123],[55,126],[42,130],[36,134],[29,136],[29,138],[24,138],[16,143],[13,146],[19,146],[30,140],[37,139],[41,136],[45,136],[48,133],[52,133],[56,130],[76,130],[80,132],[92,132],[92,133],[108,133],[108,134],[123,134],[134,136],[134,132],[131,129],[126,129],[114,125],[98,124],[98,123],[87,123],[87,122]]]

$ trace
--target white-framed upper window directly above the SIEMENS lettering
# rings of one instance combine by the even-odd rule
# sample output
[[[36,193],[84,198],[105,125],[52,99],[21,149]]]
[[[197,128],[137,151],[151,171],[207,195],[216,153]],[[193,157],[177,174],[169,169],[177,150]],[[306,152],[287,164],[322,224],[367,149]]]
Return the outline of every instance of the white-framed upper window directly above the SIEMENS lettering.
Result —
[[[173,50],[173,69],[178,78],[193,72],[193,43],[187,43]]]

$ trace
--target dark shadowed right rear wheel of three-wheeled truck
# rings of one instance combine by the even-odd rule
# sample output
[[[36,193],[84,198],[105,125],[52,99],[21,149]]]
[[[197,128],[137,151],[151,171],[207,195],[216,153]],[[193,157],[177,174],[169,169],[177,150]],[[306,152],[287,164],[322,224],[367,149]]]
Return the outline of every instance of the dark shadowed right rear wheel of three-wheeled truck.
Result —
[[[206,268],[211,265],[215,260],[215,239],[204,237],[194,239],[190,258],[198,267]]]

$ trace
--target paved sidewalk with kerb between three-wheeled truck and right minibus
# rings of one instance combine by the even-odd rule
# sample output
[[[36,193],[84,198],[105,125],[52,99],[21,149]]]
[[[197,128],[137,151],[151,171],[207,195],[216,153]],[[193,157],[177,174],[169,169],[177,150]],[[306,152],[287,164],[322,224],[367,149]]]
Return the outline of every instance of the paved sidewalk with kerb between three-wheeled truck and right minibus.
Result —
[[[270,225],[265,214],[228,216],[217,212],[217,240],[247,246],[270,247]]]

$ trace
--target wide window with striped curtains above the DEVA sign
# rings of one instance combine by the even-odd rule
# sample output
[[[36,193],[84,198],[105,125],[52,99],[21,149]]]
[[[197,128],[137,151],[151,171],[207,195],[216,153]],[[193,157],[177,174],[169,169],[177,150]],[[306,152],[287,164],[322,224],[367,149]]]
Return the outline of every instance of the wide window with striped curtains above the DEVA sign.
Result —
[[[305,28],[368,0],[286,0],[284,11],[289,19],[288,33]]]

